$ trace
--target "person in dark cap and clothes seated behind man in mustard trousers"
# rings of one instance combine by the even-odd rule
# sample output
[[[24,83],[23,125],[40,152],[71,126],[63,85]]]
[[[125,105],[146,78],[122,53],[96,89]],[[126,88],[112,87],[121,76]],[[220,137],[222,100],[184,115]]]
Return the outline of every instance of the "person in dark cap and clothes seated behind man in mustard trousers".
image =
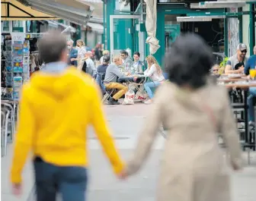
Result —
[[[96,82],[101,87],[101,93],[103,96],[106,93],[106,88],[104,86],[103,80],[105,78],[107,67],[108,67],[109,63],[110,63],[110,56],[104,55],[102,58],[102,64],[99,65],[97,68],[98,74],[96,76]]]

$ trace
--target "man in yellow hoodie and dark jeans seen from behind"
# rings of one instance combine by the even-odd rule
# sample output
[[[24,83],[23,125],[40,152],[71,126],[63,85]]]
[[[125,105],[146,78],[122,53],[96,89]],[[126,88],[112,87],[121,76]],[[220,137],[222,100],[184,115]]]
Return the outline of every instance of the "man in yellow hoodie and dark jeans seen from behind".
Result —
[[[11,166],[13,193],[21,193],[21,172],[33,152],[37,201],[85,200],[89,125],[103,146],[117,176],[123,170],[101,107],[101,93],[91,77],[67,65],[66,39],[59,33],[39,43],[42,71],[21,94],[18,133]]]

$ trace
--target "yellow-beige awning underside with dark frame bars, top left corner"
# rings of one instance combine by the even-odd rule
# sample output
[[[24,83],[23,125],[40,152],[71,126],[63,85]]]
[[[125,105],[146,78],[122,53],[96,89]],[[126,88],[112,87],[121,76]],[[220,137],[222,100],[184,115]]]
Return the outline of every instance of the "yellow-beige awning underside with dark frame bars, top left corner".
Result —
[[[55,18],[50,14],[35,11],[15,0],[1,0],[1,20],[44,20]]]

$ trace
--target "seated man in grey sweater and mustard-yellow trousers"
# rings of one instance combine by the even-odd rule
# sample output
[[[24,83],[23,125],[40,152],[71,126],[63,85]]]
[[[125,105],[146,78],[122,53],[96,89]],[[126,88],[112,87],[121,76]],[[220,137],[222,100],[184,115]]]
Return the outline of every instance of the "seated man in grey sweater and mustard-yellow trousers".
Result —
[[[109,100],[110,105],[119,105],[120,103],[118,102],[118,99],[122,97],[127,91],[128,87],[121,84],[117,83],[117,77],[126,77],[126,74],[123,74],[120,71],[120,68],[117,66],[122,64],[122,58],[116,57],[114,58],[114,63],[110,64],[107,67],[105,79],[104,79],[104,85],[106,86],[106,89],[117,89],[119,90],[113,98],[111,97]]]

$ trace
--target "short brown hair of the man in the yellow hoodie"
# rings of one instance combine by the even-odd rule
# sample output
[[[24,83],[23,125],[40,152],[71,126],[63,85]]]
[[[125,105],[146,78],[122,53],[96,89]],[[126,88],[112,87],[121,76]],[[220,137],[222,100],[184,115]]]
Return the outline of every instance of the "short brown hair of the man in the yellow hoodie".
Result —
[[[66,50],[66,38],[59,31],[51,31],[40,39],[38,49],[44,63],[59,61]]]

